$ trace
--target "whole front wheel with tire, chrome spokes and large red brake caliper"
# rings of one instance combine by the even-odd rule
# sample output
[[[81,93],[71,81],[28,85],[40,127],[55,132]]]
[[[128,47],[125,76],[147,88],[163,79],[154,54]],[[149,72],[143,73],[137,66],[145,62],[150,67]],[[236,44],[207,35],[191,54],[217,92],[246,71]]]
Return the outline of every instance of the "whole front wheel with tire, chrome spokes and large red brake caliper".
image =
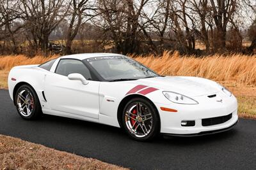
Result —
[[[124,108],[122,115],[124,129],[138,141],[148,141],[159,134],[160,119],[152,103],[142,98],[134,98]]]

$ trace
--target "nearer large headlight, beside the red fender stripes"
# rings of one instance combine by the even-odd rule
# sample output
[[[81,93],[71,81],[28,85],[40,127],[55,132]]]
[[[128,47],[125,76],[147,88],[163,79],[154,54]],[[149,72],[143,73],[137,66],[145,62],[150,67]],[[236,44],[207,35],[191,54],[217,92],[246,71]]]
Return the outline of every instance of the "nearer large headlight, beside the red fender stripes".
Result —
[[[173,103],[179,104],[198,104],[197,101],[191,99],[190,97],[184,96],[182,94],[178,94],[175,92],[163,92],[163,95]]]

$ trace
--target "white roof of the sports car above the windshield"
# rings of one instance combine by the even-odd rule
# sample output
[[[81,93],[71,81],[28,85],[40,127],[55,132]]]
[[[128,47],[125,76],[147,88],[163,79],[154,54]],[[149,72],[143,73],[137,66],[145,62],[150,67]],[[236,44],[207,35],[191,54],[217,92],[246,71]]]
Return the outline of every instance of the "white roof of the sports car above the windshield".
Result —
[[[123,56],[122,54],[118,53],[78,53],[78,54],[73,54],[73,55],[65,55],[62,56],[61,59],[79,59],[79,60],[84,60],[84,59],[89,59],[92,57],[113,57],[113,56]]]

